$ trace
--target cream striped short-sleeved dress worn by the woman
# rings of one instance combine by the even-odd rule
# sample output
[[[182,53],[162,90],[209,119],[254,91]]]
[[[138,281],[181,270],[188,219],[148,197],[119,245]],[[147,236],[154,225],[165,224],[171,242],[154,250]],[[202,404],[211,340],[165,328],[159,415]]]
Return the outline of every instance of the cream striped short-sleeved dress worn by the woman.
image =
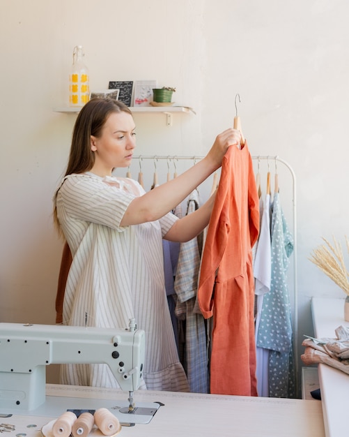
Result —
[[[121,227],[138,182],[91,173],[65,177],[57,214],[72,251],[63,323],[127,327],[146,332],[144,380],[149,390],[189,391],[180,364],[164,288],[162,237],[178,218]],[[106,364],[67,364],[61,383],[118,387]],[[145,388],[145,385],[143,385]]]

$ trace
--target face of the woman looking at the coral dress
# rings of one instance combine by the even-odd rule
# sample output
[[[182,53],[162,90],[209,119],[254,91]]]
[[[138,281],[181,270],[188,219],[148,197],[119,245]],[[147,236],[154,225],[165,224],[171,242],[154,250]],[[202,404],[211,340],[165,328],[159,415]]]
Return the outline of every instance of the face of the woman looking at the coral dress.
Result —
[[[117,167],[131,164],[136,147],[135,124],[127,112],[112,112],[105,122],[100,137],[91,135],[91,150],[95,154],[92,171],[100,176],[111,175]]]

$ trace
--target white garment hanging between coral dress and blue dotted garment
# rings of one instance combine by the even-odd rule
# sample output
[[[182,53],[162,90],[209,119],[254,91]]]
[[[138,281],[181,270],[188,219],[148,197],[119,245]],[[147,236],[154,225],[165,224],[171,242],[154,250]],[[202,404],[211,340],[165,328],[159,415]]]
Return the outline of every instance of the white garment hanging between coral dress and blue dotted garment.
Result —
[[[256,341],[261,320],[263,295],[270,291],[272,277],[272,255],[270,237],[270,194],[265,195],[265,204],[261,218],[261,231],[258,238],[256,257],[254,259],[254,278],[256,295]],[[268,362],[269,350],[256,348],[256,377],[258,395],[269,396]]]

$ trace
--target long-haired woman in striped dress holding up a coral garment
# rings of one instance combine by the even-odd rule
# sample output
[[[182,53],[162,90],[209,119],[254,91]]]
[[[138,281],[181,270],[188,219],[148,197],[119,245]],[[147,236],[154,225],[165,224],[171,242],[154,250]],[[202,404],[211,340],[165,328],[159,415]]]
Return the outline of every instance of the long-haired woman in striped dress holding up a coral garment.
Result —
[[[86,103],[75,123],[65,177],[54,197],[56,225],[70,246],[63,323],[127,327],[146,332],[144,388],[188,391],[164,290],[162,238],[185,242],[208,225],[214,196],[178,219],[171,209],[215,172],[240,133],[217,136],[208,155],[183,175],[145,193],[127,168],[135,147],[132,112],[119,101]],[[66,364],[61,383],[118,387],[105,364]]]

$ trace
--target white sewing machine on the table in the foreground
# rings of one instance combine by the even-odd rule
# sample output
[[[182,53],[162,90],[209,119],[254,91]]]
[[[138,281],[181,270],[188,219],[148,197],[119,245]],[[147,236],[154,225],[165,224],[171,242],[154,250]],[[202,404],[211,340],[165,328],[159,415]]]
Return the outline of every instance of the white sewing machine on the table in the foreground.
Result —
[[[145,333],[137,329],[134,319],[125,329],[0,323],[1,412],[33,414],[38,410],[42,414],[47,403],[49,364],[107,364],[121,390],[129,392],[128,405],[112,407],[117,416],[122,416],[120,421],[148,423],[159,403],[134,406],[133,402],[133,392],[142,377],[144,354]]]

